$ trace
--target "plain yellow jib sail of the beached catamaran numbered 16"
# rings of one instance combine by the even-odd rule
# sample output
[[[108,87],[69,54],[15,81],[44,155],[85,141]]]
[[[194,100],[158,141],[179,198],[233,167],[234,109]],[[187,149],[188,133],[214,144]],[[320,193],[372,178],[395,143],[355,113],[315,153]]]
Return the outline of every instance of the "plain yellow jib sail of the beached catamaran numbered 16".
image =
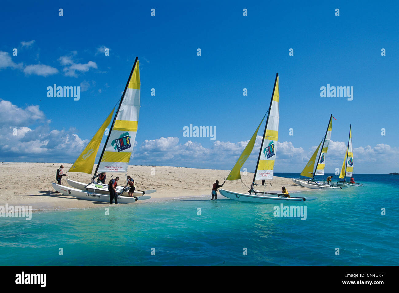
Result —
[[[81,173],[91,174],[91,172],[93,171],[94,161],[97,155],[97,151],[99,150],[105,128],[107,128],[107,126],[111,123],[111,118],[113,114],[114,114],[114,109],[112,109],[111,114],[108,115],[103,125],[101,125],[99,130],[93,136],[89,144],[87,144],[85,149],[76,159],[75,163],[73,163],[72,167],[68,170],[68,172],[81,172]]]

